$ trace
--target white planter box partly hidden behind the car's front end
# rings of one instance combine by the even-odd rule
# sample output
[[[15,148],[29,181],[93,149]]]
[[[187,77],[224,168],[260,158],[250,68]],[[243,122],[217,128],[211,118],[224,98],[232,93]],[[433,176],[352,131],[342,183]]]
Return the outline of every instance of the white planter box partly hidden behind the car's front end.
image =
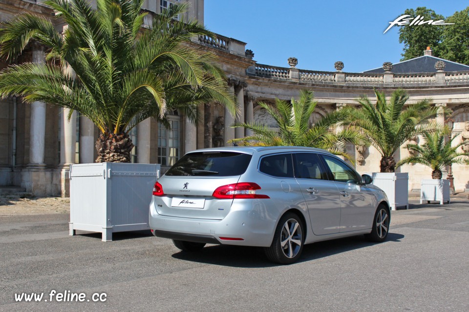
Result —
[[[369,174],[373,178],[373,185],[384,191],[389,200],[391,210],[405,206],[409,209],[409,174],[374,172]]]

